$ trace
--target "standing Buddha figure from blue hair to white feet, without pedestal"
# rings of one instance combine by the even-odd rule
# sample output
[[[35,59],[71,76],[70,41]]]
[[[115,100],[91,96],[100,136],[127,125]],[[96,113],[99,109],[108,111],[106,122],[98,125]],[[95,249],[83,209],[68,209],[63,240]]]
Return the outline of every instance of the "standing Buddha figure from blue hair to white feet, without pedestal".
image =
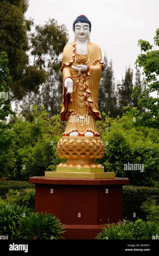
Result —
[[[73,23],[74,41],[62,56],[63,99],[61,120],[67,121],[63,136],[99,137],[96,120],[99,83],[104,63],[100,47],[90,42],[91,22],[80,15]]]

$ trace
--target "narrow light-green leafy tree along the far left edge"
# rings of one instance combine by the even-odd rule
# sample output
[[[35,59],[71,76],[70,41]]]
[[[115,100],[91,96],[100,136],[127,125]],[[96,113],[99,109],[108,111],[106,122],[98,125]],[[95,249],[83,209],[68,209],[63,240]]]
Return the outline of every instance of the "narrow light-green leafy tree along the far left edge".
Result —
[[[14,154],[11,145],[14,139],[11,124],[7,122],[7,117],[15,115],[10,103],[10,93],[8,83],[12,78],[9,75],[8,58],[5,52],[0,54],[0,172],[11,168],[14,165]]]

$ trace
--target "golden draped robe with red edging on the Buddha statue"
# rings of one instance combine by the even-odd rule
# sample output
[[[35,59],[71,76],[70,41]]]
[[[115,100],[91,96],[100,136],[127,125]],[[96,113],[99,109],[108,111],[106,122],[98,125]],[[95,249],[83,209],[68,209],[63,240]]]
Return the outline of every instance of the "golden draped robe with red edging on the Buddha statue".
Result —
[[[87,71],[79,72],[71,68],[77,64],[87,65]],[[62,55],[63,96],[61,120],[67,121],[63,136],[69,136],[72,131],[77,131],[78,136],[84,136],[87,131],[99,136],[96,120],[102,118],[98,111],[98,94],[101,73],[103,71],[102,54],[100,47],[88,41],[88,54],[76,53],[76,42],[65,45]],[[67,77],[73,80],[73,92],[69,94],[64,87]]]

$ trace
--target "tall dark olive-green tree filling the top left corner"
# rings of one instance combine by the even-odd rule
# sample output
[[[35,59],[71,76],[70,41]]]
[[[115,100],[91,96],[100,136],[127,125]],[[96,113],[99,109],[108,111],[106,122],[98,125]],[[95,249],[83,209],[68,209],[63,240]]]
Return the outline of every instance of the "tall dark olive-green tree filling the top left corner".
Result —
[[[12,82],[8,84],[11,100],[21,98],[25,92],[36,90],[46,81],[46,73],[29,65],[28,32],[33,20],[26,20],[27,0],[4,0],[0,2],[0,52],[8,56],[8,68]]]

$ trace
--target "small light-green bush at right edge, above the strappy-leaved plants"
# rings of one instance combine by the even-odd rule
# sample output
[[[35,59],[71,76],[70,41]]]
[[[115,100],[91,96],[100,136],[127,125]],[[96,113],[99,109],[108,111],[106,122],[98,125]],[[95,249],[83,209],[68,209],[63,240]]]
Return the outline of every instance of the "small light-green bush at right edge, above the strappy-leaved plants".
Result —
[[[147,220],[159,223],[159,205],[156,199],[149,199],[142,203],[141,208],[147,214]]]

